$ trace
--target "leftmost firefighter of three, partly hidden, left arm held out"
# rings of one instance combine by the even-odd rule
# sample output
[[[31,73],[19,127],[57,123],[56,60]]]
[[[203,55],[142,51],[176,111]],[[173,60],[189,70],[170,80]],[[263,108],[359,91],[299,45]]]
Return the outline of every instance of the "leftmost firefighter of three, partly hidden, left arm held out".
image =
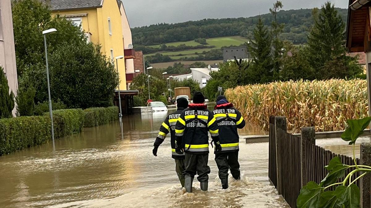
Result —
[[[180,116],[180,113],[188,107],[188,100],[185,98],[179,98],[177,100],[177,111],[174,113],[169,114],[165,121],[162,123],[160,127],[160,132],[158,132],[158,136],[156,138],[155,143],[153,144],[154,148],[152,150],[153,155],[157,157],[157,149],[158,146],[164,141],[166,135],[170,131],[170,144],[171,144],[171,157],[175,160],[175,171],[177,172],[180,184],[182,187],[184,187],[184,152],[181,152],[181,154],[178,154],[175,152],[175,124],[177,124],[178,117]]]

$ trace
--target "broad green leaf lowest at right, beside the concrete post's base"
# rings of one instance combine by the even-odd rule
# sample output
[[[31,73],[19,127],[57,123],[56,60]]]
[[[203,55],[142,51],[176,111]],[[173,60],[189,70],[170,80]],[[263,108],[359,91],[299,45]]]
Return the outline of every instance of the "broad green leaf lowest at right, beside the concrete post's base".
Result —
[[[361,193],[357,185],[336,187],[335,194],[336,198],[338,198],[338,205],[345,205],[347,208],[360,207]]]

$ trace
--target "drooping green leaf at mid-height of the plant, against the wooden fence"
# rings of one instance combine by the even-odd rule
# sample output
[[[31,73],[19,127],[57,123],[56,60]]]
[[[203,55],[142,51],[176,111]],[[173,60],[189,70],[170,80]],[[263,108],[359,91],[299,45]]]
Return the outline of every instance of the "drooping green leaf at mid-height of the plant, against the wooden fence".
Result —
[[[321,187],[326,187],[328,185],[336,183],[339,178],[345,176],[345,171],[349,168],[347,165],[341,163],[339,157],[334,157],[331,159],[330,163],[325,166],[329,171],[326,177],[319,184]]]

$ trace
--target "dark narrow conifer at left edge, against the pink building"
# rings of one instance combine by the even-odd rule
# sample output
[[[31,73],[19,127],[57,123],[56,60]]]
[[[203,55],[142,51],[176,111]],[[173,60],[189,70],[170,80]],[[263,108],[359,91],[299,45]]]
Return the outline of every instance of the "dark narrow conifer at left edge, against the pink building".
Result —
[[[0,66],[0,118],[11,118],[14,108],[14,94],[9,93],[8,80],[5,77],[4,69]]]

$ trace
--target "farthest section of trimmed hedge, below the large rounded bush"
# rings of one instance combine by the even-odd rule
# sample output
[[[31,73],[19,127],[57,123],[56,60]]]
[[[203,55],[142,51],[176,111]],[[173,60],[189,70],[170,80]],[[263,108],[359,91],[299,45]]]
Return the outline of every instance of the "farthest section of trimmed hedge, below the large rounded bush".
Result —
[[[108,124],[118,119],[118,107],[108,108],[87,108],[84,110],[84,127],[95,127]]]

